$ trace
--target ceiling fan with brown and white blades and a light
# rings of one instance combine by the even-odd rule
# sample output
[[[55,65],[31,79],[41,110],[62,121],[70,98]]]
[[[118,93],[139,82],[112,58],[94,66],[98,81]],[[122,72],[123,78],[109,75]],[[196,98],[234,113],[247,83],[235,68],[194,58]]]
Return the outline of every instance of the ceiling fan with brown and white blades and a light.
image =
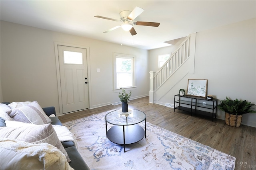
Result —
[[[118,25],[116,27],[113,27],[111,29],[108,29],[107,31],[105,31],[104,33],[108,33],[110,31],[113,31],[114,29],[117,29],[119,27],[122,27],[122,29],[124,29],[124,31],[130,31],[130,33],[132,35],[136,35],[136,31],[133,27],[133,25],[144,25],[144,26],[151,26],[151,27],[158,27],[160,25],[159,22],[144,22],[144,21],[133,21],[136,17],[138,17],[142,12],[144,12],[144,10],[138,6],[136,6],[134,8],[134,10],[131,11],[122,11],[119,13],[120,15],[120,20],[116,20],[113,18],[107,18],[107,17],[103,17],[103,16],[94,16],[97,18],[102,18],[102,19],[106,19],[106,20],[112,20],[112,21],[118,21],[118,22],[122,22],[121,25]]]

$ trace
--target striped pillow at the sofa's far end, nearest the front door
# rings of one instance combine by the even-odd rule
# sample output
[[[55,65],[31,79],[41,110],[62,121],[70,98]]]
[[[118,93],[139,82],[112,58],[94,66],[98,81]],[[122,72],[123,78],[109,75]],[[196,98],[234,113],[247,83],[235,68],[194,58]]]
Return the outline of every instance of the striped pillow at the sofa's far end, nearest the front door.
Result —
[[[36,101],[22,107],[14,108],[8,112],[8,115],[15,121],[33,123],[36,125],[43,125],[52,122]]]

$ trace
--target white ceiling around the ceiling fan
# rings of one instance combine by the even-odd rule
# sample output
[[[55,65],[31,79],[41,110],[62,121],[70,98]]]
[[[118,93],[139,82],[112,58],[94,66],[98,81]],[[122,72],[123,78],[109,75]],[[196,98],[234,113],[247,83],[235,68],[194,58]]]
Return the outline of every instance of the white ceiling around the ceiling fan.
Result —
[[[165,47],[170,45],[165,41],[190,33],[256,18],[255,0],[1,0],[0,6],[4,21],[141,49]],[[119,20],[119,12],[136,6],[145,11],[134,21],[160,22],[160,26],[134,25],[134,36],[121,28],[103,33],[121,23],[94,17]]]

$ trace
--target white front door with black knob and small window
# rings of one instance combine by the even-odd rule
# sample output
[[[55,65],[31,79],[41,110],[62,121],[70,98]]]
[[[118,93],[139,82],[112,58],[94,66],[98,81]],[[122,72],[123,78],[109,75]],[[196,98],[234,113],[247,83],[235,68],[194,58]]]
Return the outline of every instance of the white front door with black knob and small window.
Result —
[[[89,108],[86,49],[58,45],[62,111]]]

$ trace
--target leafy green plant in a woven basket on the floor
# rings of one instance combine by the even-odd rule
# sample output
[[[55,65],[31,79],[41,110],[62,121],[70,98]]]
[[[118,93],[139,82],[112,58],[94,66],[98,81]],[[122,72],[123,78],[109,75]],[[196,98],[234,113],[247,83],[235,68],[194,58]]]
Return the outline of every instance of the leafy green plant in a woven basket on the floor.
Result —
[[[242,123],[242,116],[246,113],[256,113],[255,110],[252,110],[251,104],[247,100],[230,100],[226,97],[225,100],[221,100],[218,108],[222,111],[225,111],[225,122],[227,125],[239,127]]]

